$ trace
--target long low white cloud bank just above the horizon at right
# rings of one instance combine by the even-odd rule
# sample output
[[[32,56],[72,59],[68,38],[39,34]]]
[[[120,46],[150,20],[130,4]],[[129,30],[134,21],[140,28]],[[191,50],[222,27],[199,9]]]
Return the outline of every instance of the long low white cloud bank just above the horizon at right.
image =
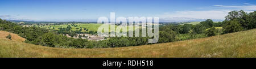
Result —
[[[196,19],[216,19],[224,20],[231,10],[208,10],[208,11],[176,11],[173,14],[160,15],[163,20],[196,20]]]

